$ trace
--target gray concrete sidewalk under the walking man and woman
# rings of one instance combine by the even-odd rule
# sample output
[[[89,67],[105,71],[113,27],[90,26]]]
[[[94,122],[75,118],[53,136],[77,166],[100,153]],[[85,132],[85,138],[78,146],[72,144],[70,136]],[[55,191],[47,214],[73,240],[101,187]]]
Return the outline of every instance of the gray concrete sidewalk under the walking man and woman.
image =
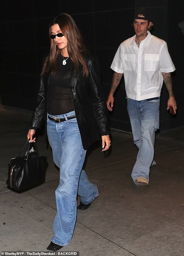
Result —
[[[56,214],[59,171],[44,137],[40,155],[48,158],[44,184],[23,193],[6,186],[8,162],[26,142],[32,112],[0,106],[0,251],[47,251]],[[157,133],[156,165],[149,186],[136,187],[131,170],[137,148],[132,135],[112,131],[111,150],[89,150],[85,170],[99,189],[89,209],[77,212],[70,244],[62,251],[80,256],[184,255],[184,127]],[[49,251],[47,251],[49,252]]]

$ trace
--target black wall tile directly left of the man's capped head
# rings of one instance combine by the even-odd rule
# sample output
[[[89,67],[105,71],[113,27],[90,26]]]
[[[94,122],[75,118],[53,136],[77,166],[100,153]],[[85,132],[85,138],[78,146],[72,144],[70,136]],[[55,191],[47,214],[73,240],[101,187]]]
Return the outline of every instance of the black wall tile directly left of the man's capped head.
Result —
[[[134,9],[95,13],[96,47],[118,47],[134,35]]]

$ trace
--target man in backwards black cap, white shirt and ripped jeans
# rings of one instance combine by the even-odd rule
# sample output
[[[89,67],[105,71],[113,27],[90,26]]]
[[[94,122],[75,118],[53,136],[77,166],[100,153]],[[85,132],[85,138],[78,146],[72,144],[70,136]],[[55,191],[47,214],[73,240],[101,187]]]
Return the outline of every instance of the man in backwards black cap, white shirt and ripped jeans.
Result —
[[[170,74],[175,67],[167,43],[149,32],[153,26],[151,20],[148,9],[140,8],[135,12],[136,34],[122,42],[115,54],[111,64],[111,69],[115,72],[107,99],[107,108],[112,111],[113,94],[124,74],[133,140],[139,149],[131,174],[136,185],[149,184],[150,166],[156,164],[153,160],[155,130],[159,128],[160,92],[163,81],[169,93],[167,110],[170,108],[170,112],[176,114],[177,109]]]

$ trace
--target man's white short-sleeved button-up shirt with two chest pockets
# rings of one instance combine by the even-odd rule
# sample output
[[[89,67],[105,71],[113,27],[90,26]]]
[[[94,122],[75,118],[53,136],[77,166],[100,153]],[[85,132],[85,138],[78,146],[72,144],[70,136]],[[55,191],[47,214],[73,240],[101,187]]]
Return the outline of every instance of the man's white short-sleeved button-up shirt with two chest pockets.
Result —
[[[140,42],[135,37],[122,42],[114,56],[111,69],[123,73],[127,97],[137,101],[160,96],[163,73],[175,70],[167,49],[167,43],[151,35]]]

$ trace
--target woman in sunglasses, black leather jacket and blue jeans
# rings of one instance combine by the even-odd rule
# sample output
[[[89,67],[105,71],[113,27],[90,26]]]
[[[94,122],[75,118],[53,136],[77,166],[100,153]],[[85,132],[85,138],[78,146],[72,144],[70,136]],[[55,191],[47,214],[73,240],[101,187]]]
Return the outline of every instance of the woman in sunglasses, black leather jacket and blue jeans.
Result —
[[[86,210],[98,196],[82,169],[86,149],[102,136],[102,151],[110,146],[110,128],[100,82],[99,65],[89,56],[73,18],[62,13],[49,28],[50,53],[41,74],[37,107],[27,138],[40,128],[45,116],[54,163],[60,169],[55,191],[57,214],[48,250],[70,243],[78,209]]]

